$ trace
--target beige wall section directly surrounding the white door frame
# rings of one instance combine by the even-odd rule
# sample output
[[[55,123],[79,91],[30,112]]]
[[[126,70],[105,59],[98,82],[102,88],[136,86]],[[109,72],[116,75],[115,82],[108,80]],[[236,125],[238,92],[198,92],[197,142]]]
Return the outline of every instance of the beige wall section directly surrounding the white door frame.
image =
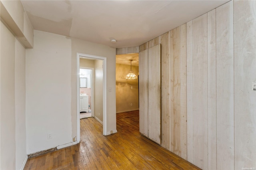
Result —
[[[86,42],[72,38],[72,125],[76,125],[76,53],[96,55],[107,59],[107,133],[116,131],[116,49],[106,45]],[[95,71],[94,71],[95,72]],[[95,74],[95,73],[94,73]],[[94,105],[96,107],[96,105]],[[76,127],[72,126],[72,135],[76,135]]]

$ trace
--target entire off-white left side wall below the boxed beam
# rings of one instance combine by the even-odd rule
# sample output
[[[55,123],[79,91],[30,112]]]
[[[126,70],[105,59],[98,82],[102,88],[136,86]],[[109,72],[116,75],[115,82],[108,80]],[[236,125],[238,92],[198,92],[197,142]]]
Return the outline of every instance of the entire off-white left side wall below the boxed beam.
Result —
[[[20,169],[26,158],[25,48],[0,27],[0,169]]]

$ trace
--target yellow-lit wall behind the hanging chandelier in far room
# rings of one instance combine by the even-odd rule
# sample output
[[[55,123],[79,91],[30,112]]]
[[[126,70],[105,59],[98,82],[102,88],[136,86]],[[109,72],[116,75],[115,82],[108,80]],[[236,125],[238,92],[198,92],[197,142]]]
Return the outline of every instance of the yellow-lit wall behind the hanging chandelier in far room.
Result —
[[[138,79],[125,79],[129,71],[130,65],[116,64],[116,113],[139,109]],[[139,67],[132,66],[132,71],[138,76]]]

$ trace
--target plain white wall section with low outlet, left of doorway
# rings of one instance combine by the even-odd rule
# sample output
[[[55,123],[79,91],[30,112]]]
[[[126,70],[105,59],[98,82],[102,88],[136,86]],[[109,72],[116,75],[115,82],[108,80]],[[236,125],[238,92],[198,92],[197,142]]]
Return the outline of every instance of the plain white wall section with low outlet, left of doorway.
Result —
[[[70,63],[70,39],[34,31],[34,48],[26,49],[28,154],[72,142]]]

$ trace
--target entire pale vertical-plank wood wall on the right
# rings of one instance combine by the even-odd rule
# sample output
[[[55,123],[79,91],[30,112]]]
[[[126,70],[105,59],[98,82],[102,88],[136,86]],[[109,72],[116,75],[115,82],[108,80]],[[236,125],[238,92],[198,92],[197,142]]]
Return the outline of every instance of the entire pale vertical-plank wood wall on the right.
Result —
[[[140,45],[161,44],[161,145],[204,170],[256,168],[255,11],[230,1]]]

